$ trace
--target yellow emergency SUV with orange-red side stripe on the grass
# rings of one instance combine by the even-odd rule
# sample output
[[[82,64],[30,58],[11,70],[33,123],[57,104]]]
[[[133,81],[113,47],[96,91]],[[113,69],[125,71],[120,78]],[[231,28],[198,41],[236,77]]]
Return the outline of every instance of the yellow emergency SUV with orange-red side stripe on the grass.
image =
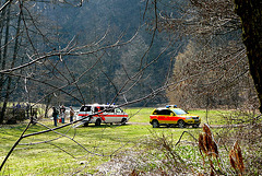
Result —
[[[152,112],[150,124],[153,128],[159,126],[178,126],[179,128],[192,126],[193,128],[198,128],[201,124],[201,118],[198,115],[192,115],[181,108],[177,108],[176,105],[167,105]]]

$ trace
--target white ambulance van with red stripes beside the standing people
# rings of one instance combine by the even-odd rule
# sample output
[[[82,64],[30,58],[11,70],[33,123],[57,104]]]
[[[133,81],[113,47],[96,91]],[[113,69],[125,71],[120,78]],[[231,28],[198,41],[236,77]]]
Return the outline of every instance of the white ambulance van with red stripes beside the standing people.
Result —
[[[116,105],[105,104],[91,104],[82,105],[78,115],[78,120],[83,119],[82,124],[88,126],[88,124],[122,124],[128,121],[128,114]]]

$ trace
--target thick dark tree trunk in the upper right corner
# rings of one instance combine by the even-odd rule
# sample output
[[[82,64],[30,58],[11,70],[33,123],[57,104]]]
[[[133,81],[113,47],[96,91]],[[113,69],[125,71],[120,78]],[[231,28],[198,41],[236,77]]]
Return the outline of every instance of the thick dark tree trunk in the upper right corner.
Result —
[[[242,39],[262,113],[262,1],[235,0],[235,4],[241,19]]]

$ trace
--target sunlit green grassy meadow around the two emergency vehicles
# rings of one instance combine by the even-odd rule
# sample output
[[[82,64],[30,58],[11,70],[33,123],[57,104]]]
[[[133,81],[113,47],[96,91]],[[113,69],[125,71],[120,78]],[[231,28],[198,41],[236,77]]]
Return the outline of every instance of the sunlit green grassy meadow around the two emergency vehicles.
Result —
[[[171,136],[174,141],[177,141],[184,130],[190,131],[195,138],[202,131],[201,128],[191,127],[153,129],[148,124],[148,116],[153,108],[124,110],[131,117],[126,126],[90,125],[90,127],[78,128],[69,126],[57,131],[24,138],[9,157],[0,175],[71,175],[78,172],[93,174],[112,155],[135,148],[141,141],[151,139],[153,136]],[[206,122],[205,110],[190,110],[190,113],[200,115],[202,124]],[[224,125],[226,121],[222,114],[218,110],[209,112],[209,122]],[[53,127],[50,119],[39,122],[46,127],[40,124],[34,125],[26,134]],[[0,163],[25,127],[26,124],[0,126]],[[190,140],[189,137],[187,138]],[[142,150],[143,145],[140,148]]]

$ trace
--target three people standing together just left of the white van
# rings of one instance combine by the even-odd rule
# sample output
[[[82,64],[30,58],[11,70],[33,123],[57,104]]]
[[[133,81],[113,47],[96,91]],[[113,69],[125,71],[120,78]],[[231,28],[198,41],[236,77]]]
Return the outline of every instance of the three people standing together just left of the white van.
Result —
[[[75,112],[72,108],[72,106],[70,106],[69,109],[69,117],[70,117],[70,122],[73,122],[73,116],[74,116]],[[57,122],[58,119],[61,119],[61,122],[64,124],[64,119],[66,119],[66,107],[62,105],[59,107],[59,110],[52,106],[52,118],[53,118],[53,125],[57,127]]]

